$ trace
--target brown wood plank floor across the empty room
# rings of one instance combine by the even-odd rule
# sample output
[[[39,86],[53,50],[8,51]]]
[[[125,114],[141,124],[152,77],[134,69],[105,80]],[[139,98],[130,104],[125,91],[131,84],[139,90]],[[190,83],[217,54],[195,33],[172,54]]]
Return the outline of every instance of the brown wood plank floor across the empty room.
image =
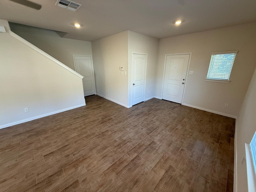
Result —
[[[0,130],[2,192],[232,192],[235,120],[165,100],[86,106]]]

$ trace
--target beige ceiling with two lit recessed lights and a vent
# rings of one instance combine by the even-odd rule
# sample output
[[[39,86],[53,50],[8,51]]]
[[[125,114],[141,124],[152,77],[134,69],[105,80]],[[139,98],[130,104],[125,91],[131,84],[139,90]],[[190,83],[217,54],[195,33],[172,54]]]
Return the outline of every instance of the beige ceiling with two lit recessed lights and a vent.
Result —
[[[125,30],[160,39],[256,21],[256,0],[73,0],[82,4],[77,12],[55,6],[56,0],[30,1],[42,8],[0,0],[0,19],[86,41]],[[180,26],[173,24],[178,19]]]

